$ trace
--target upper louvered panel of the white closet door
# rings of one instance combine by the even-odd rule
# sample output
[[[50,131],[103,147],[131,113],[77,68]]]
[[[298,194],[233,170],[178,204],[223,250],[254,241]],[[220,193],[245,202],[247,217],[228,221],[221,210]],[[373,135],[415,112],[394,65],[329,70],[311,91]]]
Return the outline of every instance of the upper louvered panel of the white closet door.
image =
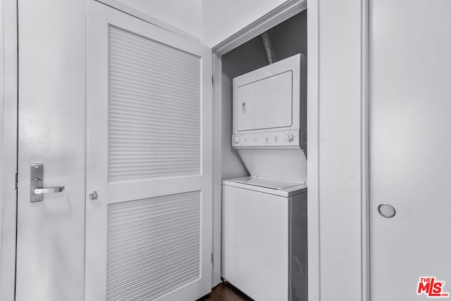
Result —
[[[109,182],[198,175],[197,56],[109,26]]]

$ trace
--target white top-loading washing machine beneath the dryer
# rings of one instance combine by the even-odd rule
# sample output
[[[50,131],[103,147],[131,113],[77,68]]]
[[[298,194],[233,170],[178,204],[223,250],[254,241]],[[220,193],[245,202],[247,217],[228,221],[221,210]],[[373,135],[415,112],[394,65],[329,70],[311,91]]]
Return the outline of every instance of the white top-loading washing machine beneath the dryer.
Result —
[[[307,300],[307,186],[223,181],[223,278],[258,301]]]

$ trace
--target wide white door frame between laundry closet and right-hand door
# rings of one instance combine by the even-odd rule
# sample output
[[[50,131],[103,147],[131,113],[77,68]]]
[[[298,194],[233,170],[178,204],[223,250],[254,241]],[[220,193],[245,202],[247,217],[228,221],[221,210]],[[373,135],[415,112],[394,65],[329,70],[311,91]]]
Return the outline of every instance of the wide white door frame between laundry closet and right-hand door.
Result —
[[[316,133],[319,156],[316,165],[319,174],[315,174],[318,181],[312,179],[310,172],[316,171],[310,169],[308,180],[309,205],[313,205],[312,186],[315,193],[319,193],[315,200],[319,202],[318,215],[311,214],[309,207],[309,236],[311,227],[318,229],[319,272],[314,276],[319,279],[311,279],[309,265],[309,281],[321,284],[312,288],[309,283],[309,300],[340,296],[343,300],[365,301],[370,294],[369,0],[309,0],[309,5],[309,9],[314,7],[319,14],[320,45],[317,49],[320,70],[317,131],[311,132],[314,124],[310,122],[310,107],[308,117],[309,139]],[[309,52],[309,56],[311,54]],[[309,63],[309,72],[310,68]],[[310,93],[309,103],[313,102]],[[309,148],[309,160],[311,152]],[[311,162],[308,164],[311,167]],[[316,217],[319,220],[314,224],[312,219]],[[311,237],[309,251],[310,243]],[[312,293],[312,289],[317,293]]]

